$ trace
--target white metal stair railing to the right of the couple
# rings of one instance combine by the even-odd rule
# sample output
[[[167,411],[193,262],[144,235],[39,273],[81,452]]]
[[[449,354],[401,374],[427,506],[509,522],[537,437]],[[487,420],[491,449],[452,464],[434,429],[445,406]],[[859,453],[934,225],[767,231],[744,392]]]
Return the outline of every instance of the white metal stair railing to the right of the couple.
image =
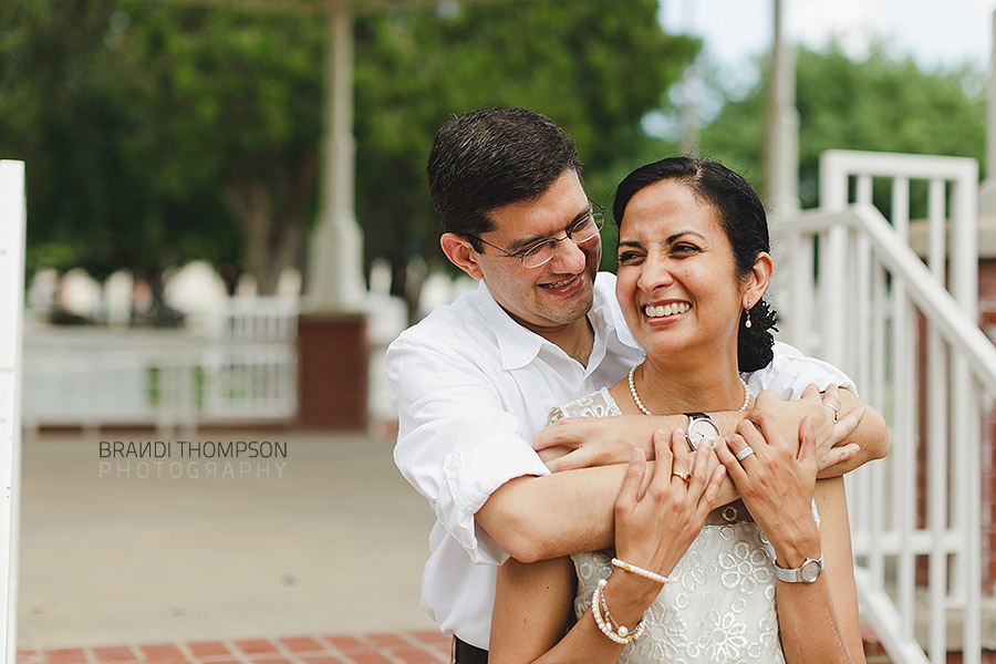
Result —
[[[884,178],[891,222],[872,205]],[[926,264],[907,242],[911,180],[926,183]],[[862,613],[896,662],[981,661],[981,413],[996,347],[977,324],[977,183],[972,159],[834,151],[823,208],[785,226],[788,341],[853,376],[890,426],[889,457],[848,476],[848,500]]]

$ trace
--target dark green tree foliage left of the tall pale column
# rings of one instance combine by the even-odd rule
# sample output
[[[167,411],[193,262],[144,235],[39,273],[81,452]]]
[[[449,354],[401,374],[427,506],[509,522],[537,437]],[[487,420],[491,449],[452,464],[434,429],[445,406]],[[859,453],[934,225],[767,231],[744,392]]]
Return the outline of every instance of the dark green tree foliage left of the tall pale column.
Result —
[[[28,163],[29,266],[125,268],[159,299],[164,271],[197,258],[271,291],[313,207],[313,21],[134,0],[0,11],[0,152]]]

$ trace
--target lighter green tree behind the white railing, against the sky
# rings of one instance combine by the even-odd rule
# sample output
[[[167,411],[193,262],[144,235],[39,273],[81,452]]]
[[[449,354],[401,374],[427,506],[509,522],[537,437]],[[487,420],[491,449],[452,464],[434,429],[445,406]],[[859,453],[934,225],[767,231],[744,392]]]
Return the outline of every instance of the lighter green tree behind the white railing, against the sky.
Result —
[[[881,43],[863,60],[852,60],[831,44],[822,52],[799,49],[796,70],[802,207],[819,204],[819,156],[827,149],[954,155],[983,162],[984,79],[967,65],[926,71],[910,58],[890,56]],[[743,100],[728,102],[701,134],[703,153],[748,174],[758,190],[764,177],[766,85],[762,77]],[[876,191],[876,200],[884,198],[884,191],[881,196]]]

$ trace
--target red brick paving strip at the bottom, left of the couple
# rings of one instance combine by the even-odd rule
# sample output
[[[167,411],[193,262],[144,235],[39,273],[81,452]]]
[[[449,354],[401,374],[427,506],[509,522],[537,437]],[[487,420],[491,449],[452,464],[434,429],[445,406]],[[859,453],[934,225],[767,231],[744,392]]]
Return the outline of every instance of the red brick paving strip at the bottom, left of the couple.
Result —
[[[445,664],[436,631],[18,651],[18,664]]]

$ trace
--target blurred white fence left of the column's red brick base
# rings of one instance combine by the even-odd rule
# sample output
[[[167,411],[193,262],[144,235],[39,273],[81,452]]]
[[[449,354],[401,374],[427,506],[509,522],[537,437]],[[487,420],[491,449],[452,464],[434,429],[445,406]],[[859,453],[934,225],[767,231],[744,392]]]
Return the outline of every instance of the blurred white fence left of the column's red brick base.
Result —
[[[295,298],[234,298],[203,334],[39,326],[24,344],[24,425],[288,421],[298,404],[297,321]]]

